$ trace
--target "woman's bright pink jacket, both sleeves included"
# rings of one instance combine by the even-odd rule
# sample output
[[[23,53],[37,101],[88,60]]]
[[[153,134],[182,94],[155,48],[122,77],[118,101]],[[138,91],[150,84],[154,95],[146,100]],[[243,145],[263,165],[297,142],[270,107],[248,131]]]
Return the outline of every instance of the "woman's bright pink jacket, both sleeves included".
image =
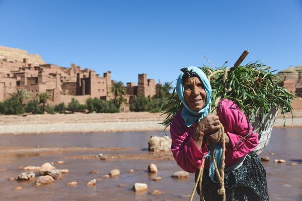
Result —
[[[248,124],[246,116],[241,112],[239,107],[228,99],[220,100],[217,108],[217,116],[224,127],[224,132],[230,137],[232,147],[225,149],[225,167],[231,166],[258,145],[258,134],[255,132],[247,140],[243,140],[236,148],[236,144],[248,133],[253,131],[253,127]],[[185,171],[196,172],[207,154],[208,149],[205,143],[201,149],[198,149],[193,141],[192,134],[197,126],[194,123],[187,127],[179,112],[170,127],[172,145],[171,151],[177,164]],[[208,160],[205,161],[205,168],[208,168]]]

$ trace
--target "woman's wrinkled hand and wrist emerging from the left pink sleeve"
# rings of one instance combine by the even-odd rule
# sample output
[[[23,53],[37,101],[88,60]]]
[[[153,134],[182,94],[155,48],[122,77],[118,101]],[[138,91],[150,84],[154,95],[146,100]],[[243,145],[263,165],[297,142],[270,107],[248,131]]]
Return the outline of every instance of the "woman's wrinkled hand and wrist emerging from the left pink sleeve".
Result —
[[[198,148],[201,148],[203,137],[215,134],[220,128],[218,116],[209,114],[203,118],[193,132],[193,141]]]

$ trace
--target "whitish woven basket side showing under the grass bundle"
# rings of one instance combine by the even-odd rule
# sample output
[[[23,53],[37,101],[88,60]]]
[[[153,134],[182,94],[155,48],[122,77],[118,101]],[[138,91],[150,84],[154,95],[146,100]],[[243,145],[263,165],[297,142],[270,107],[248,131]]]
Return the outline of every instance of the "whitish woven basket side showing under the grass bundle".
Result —
[[[261,136],[259,139],[259,144],[255,149],[257,154],[260,154],[265,148],[265,146],[268,144],[277,114],[278,114],[278,108],[274,107],[271,108],[270,114],[267,114],[264,117],[265,118],[264,127],[263,129],[260,129],[258,131],[258,133],[261,134]],[[254,123],[252,124],[253,128],[255,128],[258,124],[259,124],[259,118],[256,117]]]

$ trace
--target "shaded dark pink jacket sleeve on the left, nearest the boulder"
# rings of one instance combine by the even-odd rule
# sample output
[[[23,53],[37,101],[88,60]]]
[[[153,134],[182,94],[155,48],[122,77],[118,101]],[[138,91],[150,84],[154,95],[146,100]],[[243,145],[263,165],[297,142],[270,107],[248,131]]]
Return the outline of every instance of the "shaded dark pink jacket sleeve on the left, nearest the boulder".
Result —
[[[170,133],[172,139],[171,151],[177,164],[187,172],[196,172],[207,153],[205,143],[202,144],[201,149],[198,149],[185,124],[175,119],[171,124]]]

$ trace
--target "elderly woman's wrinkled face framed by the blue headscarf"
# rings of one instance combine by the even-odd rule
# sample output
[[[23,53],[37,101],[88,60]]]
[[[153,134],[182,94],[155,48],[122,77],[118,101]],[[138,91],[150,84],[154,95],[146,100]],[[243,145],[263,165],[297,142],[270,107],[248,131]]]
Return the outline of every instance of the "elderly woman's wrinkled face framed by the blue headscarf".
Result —
[[[184,97],[191,110],[200,111],[204,107],[206,92],[198,77],[184,80]]]

